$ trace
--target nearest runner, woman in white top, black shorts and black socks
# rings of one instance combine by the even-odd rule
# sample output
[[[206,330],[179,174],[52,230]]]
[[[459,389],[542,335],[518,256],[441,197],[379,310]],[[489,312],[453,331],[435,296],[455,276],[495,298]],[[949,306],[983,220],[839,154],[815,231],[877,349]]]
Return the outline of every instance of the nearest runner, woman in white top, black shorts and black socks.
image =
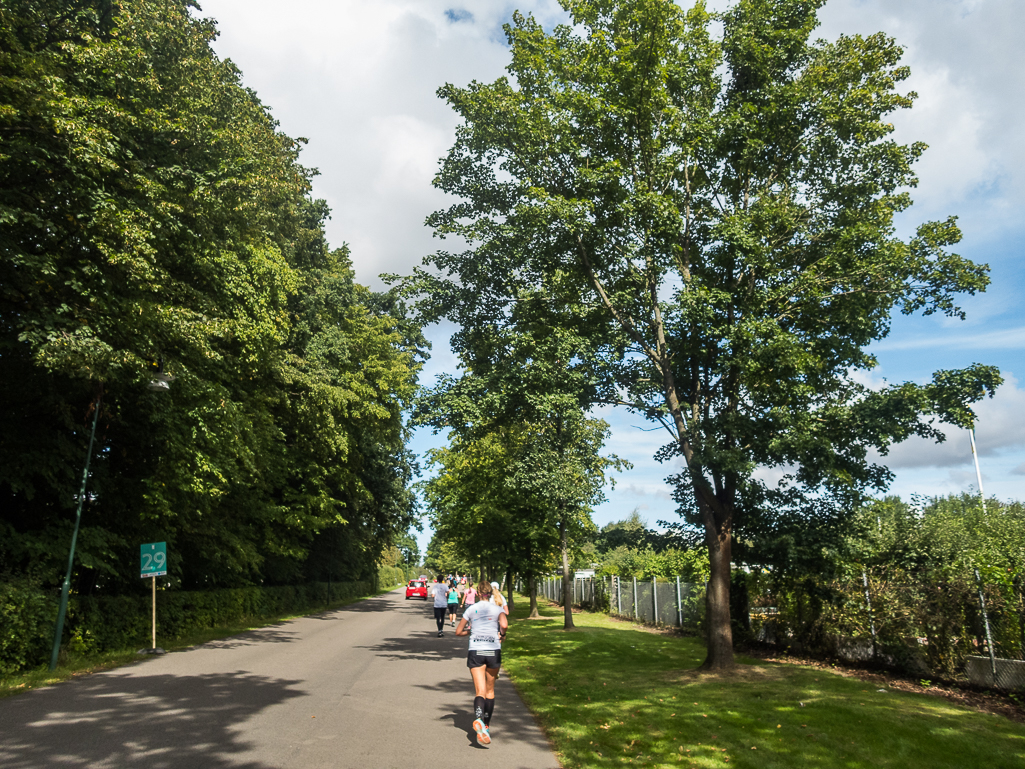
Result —
[[[502,610],[490,603],[491,585],[481,582],[480,600],[462,613],[457,636],[469,636],[466,666],[474,679],[474,731],[482,745],[491,742],[491,715],[495,712],[495,681],[502,666],[502,641],[509,623]]]

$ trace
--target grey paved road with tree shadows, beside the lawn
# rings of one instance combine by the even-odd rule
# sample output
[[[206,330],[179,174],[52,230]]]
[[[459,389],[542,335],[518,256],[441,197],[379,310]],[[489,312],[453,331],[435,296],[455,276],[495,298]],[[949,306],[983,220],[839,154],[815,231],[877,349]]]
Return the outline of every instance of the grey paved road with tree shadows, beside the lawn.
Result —
[[[402,592],[0,700],[0,767],[558,769],[502,676],[477,744],[465,639]]]

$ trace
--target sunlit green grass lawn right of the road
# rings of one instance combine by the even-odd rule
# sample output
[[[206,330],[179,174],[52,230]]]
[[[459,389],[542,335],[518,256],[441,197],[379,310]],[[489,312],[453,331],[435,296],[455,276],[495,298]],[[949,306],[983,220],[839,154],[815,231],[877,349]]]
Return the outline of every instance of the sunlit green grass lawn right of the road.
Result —
[[[1001,716],[798,665],[701,673],[698,639],[590,613],[567,633],[559,607],[527,608],[502,663],[566,769],[1025,767],[1025,726]]]

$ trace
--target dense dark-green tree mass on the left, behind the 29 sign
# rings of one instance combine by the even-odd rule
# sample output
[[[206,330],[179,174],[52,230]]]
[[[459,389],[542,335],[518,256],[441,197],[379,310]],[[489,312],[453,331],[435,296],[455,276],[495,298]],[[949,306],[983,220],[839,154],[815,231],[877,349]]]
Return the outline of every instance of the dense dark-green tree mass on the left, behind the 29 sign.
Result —
[[[416,327],[189,0],[0,4],[0,572],[363,578],[414,521]],[[167,393],[148,388],[159,366]]]

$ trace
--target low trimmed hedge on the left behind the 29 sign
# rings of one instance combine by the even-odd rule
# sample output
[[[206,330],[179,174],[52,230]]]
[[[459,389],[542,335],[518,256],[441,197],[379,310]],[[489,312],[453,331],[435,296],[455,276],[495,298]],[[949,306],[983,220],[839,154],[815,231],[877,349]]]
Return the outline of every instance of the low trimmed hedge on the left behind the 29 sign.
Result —
[[[388,586],[388,585],[382,585]],[[180,639],[196,631],[316,611],[373,595],[374,581],[311,582],[204,592],[159,591],[157,632]],[[149,645],[149,596],[73,597],[64,648],[80,653]],[[57,598],[31,584],[0,582],[0,675],[45,662],[53,643]]]

